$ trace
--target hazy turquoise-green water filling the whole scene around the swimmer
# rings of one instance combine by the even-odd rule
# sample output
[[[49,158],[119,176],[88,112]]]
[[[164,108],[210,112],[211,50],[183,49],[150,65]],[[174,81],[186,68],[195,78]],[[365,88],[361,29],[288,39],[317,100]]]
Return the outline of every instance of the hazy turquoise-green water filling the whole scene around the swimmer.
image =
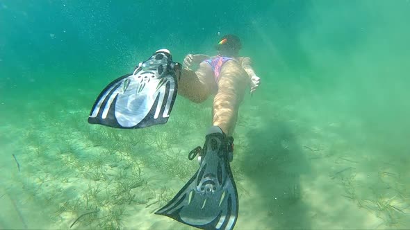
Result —
[[[87,123],[158,48],[234,33],[261,87],[231,166],[235,229],[410,228],[410,2],[0,1],[0,228],[190,229],[154,215],[197,170],[208,100],[167,124]],[[13,154],[17,161],[15,161]],[[17,162],[19,168],[17,168]],[[92,213],[91,213],[92,212]]]

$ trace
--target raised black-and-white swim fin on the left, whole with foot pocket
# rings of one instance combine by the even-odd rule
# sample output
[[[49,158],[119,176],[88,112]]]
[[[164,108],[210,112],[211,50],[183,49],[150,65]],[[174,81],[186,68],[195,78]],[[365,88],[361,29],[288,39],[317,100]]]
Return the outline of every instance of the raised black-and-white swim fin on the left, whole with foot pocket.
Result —
[[[172,62],[170,51],[156,51],[133,73],[117,78],[101,91],[88,123],[124,129],[166,123],[177,97],[180,74],[181,64]]]

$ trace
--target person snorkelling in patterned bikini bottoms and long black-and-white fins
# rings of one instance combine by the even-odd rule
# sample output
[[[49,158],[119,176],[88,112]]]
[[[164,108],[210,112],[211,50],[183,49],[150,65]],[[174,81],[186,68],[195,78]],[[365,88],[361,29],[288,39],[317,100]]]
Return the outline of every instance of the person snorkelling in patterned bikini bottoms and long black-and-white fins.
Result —
[[[95,101],[88,122],[136,129],[167,122],[177,94],[194,103],[213,97],[212,126],[204,147],[197,147],[195,175],[156,214],[199,229],[233,229],[238,218],[238,193],[229,163],[233,159],[233,130],[248,85],[259,87],[249,57],[240,57],[240,39],[226,35],[216,44],[218,55],[186,55],[184,68],[167,49],[156,51],[133,73],[111,82]],[[199,67],[193,71],[191,67]]]

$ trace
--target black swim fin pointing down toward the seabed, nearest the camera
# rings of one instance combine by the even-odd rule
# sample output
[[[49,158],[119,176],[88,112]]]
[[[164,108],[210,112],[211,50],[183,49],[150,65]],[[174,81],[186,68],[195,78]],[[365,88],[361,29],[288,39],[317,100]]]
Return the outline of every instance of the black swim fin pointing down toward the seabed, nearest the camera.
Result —
[[[220,127],[211,127],[199,153],[199,169],[156,214],[199,229],[233,229],[238,218],[238,192],[229,166],[232,152],[233,138]]]

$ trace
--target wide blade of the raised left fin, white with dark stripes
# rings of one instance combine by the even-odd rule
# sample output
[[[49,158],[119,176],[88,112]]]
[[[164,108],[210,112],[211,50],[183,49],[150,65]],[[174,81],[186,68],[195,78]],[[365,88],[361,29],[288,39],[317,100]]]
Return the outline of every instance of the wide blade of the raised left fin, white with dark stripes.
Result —
[[[177,82],[173,76],[161,79],[165,83],[156,89],[158,79],[141,83],[131,74],[117,78],[97,97],[88,123],[124,129],[167,123],[177,97]]]

